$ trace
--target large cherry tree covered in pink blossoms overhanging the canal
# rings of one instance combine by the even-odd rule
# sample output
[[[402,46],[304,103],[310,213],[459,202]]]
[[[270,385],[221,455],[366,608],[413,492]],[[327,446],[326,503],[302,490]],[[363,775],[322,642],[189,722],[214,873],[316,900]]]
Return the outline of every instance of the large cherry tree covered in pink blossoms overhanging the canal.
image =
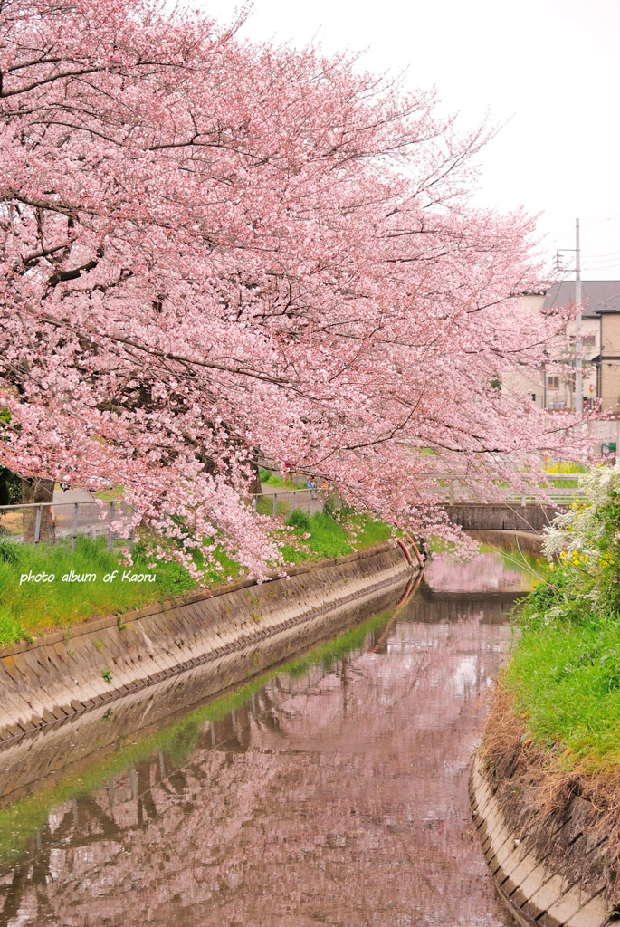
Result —
[[[420,534],[434,472],[490,492],[575,422],[494,387],[563,323],[533,222],[471,206],[486,131],[239,25],[0,0],[0,464],[260,576],[258,454]]]

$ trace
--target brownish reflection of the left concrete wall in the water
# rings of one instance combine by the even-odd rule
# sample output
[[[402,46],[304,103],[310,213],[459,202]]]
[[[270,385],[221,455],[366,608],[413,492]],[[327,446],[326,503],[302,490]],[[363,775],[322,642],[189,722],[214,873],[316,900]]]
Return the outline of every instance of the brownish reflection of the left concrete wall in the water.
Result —
[[[0,746],[0,806],[18,801],[32,789],[53,788],[68,776],[81,776],[123,744],[158,733],[178,718],[269,670],[307,654],[323,641],[393,609],[415,579],[411,574],[384,590],[369,590],[353,603],[310,616],[267,639],[237,648],[169,679],[65,718],[44,730],[32,730]]]

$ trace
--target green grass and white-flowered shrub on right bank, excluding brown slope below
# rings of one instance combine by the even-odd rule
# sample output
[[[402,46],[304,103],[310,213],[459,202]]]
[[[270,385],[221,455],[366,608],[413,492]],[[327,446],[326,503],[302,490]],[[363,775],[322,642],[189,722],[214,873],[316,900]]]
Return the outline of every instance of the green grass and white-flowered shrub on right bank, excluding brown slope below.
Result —
[[[517,609],[520,633],[502,677],[551,765],[614,779],[620,764],[619,525],[620,465],[597,467],[585,502],[574,503],[547,531],[544,546],[553,562]]]

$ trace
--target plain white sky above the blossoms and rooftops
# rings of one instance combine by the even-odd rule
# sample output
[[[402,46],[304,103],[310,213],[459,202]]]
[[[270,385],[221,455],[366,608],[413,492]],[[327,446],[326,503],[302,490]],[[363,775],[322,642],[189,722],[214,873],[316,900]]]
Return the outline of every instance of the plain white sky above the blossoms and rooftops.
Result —
[[[197,3],[224,22],[239,6]],[[488,112],[503,128],[481,159],[477,201],[542,212],[550,262],[575,248],[578,217],[584,279],[620,280],[620,0],[254,0],[241,34],[365,50],[368,70],[435,86],[463,129]]]

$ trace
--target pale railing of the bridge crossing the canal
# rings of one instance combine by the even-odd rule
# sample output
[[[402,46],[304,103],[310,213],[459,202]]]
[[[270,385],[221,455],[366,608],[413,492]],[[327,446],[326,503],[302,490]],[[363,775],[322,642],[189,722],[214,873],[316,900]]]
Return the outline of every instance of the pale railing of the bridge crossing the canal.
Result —
[[[491,499],[488,498],[488,489],[485,489],[484,498],[482,489],[480,492],[476,491],[473,485],[474,477],[467,477],[464,474],[460,476],[454,473],[429,473],[423,476],[434,482],[434,494],[444,504],[491,502]],[[498,483],[497,493],[494,494],[492,501],[525,506],[531,502],[540,502],[540,491],[542,490],[550,498],[551,502],[559,502],[565,507],[570,505],[571,502],[585,499],[584,476],[587,475],[582,473],[552,473],[548,476],[547,486],[540,481],[537,488],[531,487],[530,489],[518,490],[512,489],[507,484],[501,485]]]

